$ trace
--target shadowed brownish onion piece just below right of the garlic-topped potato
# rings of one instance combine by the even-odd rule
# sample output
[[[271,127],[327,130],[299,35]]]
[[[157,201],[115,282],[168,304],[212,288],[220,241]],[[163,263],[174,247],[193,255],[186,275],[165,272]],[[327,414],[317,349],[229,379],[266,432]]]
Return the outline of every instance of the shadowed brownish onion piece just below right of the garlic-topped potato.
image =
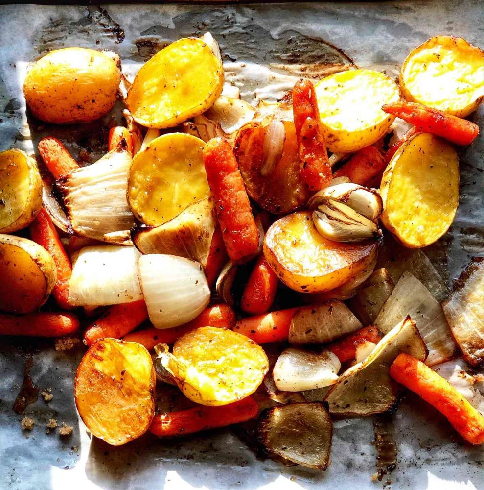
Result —
[[[383,303],[393,291],[393,281],[384,268],[377,269],[368,278],[367,282],[358,290],[349,302],[351,311],[364,325],[371,325]]]

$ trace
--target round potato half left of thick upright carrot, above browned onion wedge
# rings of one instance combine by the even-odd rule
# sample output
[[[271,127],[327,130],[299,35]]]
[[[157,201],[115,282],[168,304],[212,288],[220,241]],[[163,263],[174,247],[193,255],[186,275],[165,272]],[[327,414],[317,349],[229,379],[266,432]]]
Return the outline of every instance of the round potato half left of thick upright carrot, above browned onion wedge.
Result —
[[[133,158],[128,204],[138,220],[160,226],[210,196],[202,155],[205,143],[184,133],[155,138]]]

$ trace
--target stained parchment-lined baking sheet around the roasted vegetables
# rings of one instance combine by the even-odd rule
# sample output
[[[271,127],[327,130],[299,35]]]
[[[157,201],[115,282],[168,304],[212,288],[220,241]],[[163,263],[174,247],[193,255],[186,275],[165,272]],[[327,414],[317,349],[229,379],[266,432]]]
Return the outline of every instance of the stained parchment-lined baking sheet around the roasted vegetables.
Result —
[[[210,30],[231,66],[251,61],[287,73],[281,65],[315,63],[336,55],[322,41],[326,40],[360,67],[396,73],[406,53],[432,35],[460,35],[481,48],[484,44],[482,3],[470,0],[8,5],[0,7],[0,19],[0,150],[20,147],[32,151],[41,137],[54,134],[66,139],[75,156],[87,163],[100,156],[107,143],[106,126],[119,115],[74,130],[54,129],[29,118],[21,90],[23,73],[29,61],[50,49],[111,49],[120,54],[125,66],[136,70],[167,42]],[[473,117],[482,132],[482,108]],[[482,146],[480,137],[463,150],[456,220],[438,244],[425,249],[449,285],[471,256],[483,254]],[[91,440],[76,415],[72,379],[82,349],[62,353],[52,346],[48,340],[0,339],[0,489],[483,487],[482,449],[464,445],[435,410],[412,396],[393,417],[397,467],[382,482],[371,481],[376,471],[371,417],[335,422],[332,464],[325,473],[259,460],[245,443],[225,430],[171,442],[146,436],[113,448]],[[12,405],[28,357],[33,358],[34,382],[41,391],[52,387],[54,397],[48,404],[40,397],[27,407],[25,415],[34,418],[36,426],[23,433],[22,416],[13,412]],[[61,439],[55,432],[46,434],[45,425],[51,417],[73,425],[72,435]]]

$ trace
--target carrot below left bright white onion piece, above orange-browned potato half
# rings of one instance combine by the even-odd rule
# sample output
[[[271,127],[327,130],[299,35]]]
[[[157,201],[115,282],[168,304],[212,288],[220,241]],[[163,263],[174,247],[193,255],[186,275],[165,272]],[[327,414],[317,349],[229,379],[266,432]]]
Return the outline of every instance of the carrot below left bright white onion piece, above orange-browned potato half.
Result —
[[[99,319],[91,323],[84,333],[84,342],[91,345],[103,337],[121,339],[148,319],[144,299],[111,306]]]

